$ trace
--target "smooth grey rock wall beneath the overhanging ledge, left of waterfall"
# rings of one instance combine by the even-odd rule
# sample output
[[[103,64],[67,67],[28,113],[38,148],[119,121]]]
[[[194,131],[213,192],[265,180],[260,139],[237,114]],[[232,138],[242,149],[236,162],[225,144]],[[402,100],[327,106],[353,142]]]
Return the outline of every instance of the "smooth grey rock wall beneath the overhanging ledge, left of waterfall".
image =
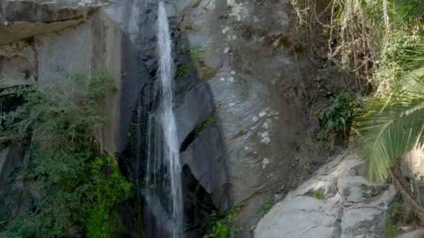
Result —
[[[68,88],[69,74],[83,79],[100,70],[114,80],[118,93],[107,93],[103,109],[109,122],[96,132],[108,152],[122,152],[128,143],[132,113],[138,102],[141,78],[136,41],[139,14],[136,3],[121,1],[102,8],[76,28],[36,37],[38,81]],[[134,4],[134,5],[132,5]]]

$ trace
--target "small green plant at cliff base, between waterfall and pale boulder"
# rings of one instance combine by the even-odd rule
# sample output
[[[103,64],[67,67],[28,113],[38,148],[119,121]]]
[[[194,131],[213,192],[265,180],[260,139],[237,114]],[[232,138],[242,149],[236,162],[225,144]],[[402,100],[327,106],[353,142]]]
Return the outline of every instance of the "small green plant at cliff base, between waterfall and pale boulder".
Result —
[[[235,238],[239,229],[235,228],[234,219],[236,215],[241,212],[242,206],[243,205],[232,207],[223,217],[213,212],[211,214],[211,220],[207,223],[207,225],[211,226],[212,232],[204,235],[203,238]]]

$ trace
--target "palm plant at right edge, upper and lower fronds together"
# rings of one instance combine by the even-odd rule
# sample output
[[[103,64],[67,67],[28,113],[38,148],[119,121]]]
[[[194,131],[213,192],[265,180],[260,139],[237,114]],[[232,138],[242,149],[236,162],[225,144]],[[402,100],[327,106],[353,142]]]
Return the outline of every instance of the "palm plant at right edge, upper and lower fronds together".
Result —
[[[386,180],[393,159],[424,144],[424,57],[409,59],[392,93],[369,102],[355,120],[354,142],[374,182]]]

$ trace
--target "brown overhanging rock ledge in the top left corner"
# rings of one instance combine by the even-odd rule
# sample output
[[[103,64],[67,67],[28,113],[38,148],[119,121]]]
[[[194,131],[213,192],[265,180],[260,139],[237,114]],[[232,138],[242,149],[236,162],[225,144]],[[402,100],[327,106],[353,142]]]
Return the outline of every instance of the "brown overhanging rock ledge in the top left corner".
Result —
[[[51,33],[84,22],[99,7],[97,1],[0,1],[0,45]]]

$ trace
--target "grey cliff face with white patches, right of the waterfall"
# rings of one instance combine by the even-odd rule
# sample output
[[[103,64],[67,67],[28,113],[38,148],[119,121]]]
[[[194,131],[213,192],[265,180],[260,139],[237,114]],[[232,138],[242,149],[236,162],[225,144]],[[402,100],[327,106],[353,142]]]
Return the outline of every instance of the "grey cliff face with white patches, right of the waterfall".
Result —
[[[215,118],[181,158],[206,190],[225,191],[226,200],[217,207],[244,202],[240,237],[248,237],[268,192],[287,180],[294,140],[303,130],[298,67],[305,64],[300,56],[296,62],[289,40],[286,4],[199,0],[174,7],[177,13],[182,9],[185,50],[178,51],[191,52],[197,78],[197,84],[177,92],[180,140]],[[210,170],[206,161],[223,171]]]

